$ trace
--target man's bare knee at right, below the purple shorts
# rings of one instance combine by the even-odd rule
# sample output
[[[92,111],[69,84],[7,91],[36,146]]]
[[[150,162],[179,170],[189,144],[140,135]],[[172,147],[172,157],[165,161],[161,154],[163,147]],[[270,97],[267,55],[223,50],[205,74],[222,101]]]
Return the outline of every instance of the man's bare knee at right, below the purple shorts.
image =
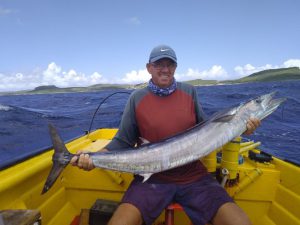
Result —
[[[233,202],[223,204],[212,219],[213,225],[251,225],[244,211]]]

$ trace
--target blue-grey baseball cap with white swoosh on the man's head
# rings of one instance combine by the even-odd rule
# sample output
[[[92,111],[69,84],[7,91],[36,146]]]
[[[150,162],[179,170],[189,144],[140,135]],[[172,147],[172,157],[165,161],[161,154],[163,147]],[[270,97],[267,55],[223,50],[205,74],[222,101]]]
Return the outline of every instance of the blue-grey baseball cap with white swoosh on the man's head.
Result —
[[[169,58],[177,63],[175,51],[168,45],[158,45],[152,49],[149,57],[149,63],[156,62],[157,60]]]

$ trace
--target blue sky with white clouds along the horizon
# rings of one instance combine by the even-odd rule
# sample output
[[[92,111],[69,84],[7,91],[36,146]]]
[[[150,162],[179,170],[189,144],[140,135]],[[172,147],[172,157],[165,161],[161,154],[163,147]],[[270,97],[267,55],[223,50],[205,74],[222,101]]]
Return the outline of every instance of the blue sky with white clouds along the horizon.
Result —
[[[0,0],[0,92],[147,82],[153,47],[175,77],[300,67],[299,0]]]

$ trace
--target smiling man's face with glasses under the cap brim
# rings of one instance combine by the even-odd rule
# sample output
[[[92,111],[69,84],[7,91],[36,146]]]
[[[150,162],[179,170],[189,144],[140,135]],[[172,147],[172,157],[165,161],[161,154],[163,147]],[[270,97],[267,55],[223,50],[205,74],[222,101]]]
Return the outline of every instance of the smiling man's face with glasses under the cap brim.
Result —
[[[152,76],[154,84],[161,88],[169,87],[174,79],[177,64],[168,58],[147,64],[148,73]]]

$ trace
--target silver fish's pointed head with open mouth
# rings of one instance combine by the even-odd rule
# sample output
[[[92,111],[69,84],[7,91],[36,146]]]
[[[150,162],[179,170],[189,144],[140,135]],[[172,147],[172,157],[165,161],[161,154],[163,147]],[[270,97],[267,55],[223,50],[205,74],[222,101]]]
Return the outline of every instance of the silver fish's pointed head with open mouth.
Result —
[[[286,101],[286,98],[274,99],[273,97],[275,95],[276,92],[271,92],[247,102],[245,104],[245,108],[249,111],[250,117],[262,120],[273,113],[281,105],[281,103]]]

